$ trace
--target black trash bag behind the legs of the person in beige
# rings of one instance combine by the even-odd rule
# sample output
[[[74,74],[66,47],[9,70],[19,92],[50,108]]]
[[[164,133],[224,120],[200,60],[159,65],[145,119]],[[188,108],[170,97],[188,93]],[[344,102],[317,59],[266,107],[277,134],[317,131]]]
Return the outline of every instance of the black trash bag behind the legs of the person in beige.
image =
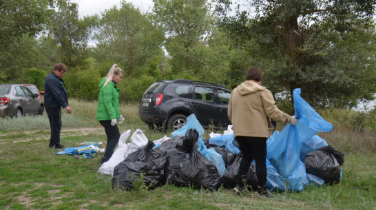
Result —
[[[242,152],[235,156],[233,163],[227,167],[222,176],[223,187],[232,189],[236,186],[240,161],[242,160]],[[254,162],[251,162],[251,166],[248,169],[246,184],[249,190],[258,189],[258,179],[256,175],[256,166]]]

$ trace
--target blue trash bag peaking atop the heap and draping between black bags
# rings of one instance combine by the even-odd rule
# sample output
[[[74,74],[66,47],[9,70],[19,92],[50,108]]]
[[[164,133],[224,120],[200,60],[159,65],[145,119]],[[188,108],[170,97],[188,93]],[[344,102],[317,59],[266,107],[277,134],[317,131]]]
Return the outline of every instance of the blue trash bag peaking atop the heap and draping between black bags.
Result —
[[[215,149],[207,149],[205,146],[204,141],[202,140],[202,136],[204,135],[204,128],[202,125],[198,122],[196,116],[194,114],[191,114],[187,117],[187,123],[181,127],[180,129],[176,130],[171,134],[172,138],[182,137],[185,136],[187,131],[189,129],[196,129],[198,132],[198,151],[205,156],[205,158],[211,160],[214,165],[216,165],[218,169],[218,173],[222,176],[224,173],[224,170],[226,170],[226,167],[224,166],[224,160],[222,156],[215,150]]]

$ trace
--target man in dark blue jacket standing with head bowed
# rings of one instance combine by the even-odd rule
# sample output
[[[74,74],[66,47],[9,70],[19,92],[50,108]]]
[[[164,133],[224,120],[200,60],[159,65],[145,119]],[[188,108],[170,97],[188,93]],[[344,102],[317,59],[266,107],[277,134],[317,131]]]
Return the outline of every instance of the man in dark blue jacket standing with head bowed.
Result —
[[[72,108],[68,105],[67,90],[65,89],[63,76],[67,72],[67,67],[63,63],[57,63],[53,72],[48,74],[44,83],[44,106],[50,120],[51,138],[48,147],[61,149],[64,145],[60,144],[61,131],[61,107],[72,113]]]

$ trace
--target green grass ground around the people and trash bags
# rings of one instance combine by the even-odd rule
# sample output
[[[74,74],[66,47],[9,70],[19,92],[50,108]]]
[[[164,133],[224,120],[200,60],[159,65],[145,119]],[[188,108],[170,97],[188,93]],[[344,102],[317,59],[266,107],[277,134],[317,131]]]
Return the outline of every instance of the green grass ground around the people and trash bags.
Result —
[[[83,141],[105,141],[105,132],[95,120],[96,103],[71,100],[70,105],[73,114],[63,114],[61,143],[72,147]],[[125,116],[121,132],[141,129],[149,140],[171,136],[150,131],[140,122],[137,109],[137,105],[121,105]],[[334,115],[323,114],[335,122],[334,129],[318,135],[345,154],[341,182],[309,186],[300,193],[273,193],[271,199],[254,192],[236,196],[223,187],[213,192],[171,185],[152,191],[142,186],[136,191],[114,190],[112,176],[97,174],[103,154],[74,159],[48,148],[46,115],[0,119],[0,209],[376,209],[375,132],[342,125],[346,113],[337,112],[335,120],[328,120]],[[210,132],[222,131],[205,130],[205,138]]]

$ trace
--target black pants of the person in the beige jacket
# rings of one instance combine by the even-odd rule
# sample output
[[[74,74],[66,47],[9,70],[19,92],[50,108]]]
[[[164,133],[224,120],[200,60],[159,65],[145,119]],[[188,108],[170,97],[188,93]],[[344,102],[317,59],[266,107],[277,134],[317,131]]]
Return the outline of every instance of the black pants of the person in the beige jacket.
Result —
[[[242,160],[240,161],[237,184],[242,186],[242,178],[247,176],[251,162],[256,162],[256,176],[258,186],[266,189],[267,186],[267,138],[236,136],[239,143],[239,149],[242,151]]]

